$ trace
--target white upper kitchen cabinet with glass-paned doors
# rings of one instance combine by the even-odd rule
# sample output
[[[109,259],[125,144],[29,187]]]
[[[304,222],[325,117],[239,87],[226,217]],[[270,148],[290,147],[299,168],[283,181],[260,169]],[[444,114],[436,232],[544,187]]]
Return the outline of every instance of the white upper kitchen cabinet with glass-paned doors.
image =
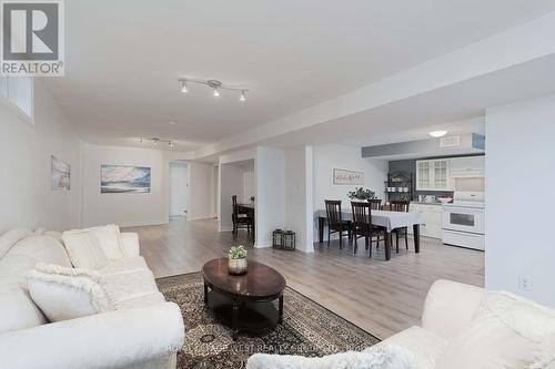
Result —
[[[453,191],[450,160],[416,161],[416,191]]]

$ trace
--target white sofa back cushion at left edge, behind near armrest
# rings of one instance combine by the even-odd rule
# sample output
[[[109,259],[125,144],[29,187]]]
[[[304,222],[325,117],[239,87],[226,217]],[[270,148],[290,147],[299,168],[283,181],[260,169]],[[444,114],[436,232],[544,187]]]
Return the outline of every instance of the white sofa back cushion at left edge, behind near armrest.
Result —
[[[47,322],[29,291],[10,278],[0,278],[0,334]]]

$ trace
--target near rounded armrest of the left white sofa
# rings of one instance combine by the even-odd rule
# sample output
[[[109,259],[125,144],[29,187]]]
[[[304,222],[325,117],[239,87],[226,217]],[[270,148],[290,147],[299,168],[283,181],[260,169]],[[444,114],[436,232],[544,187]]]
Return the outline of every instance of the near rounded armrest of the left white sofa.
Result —
[[[178,305],[114,310],[0,335],[2,368],[122,368],[172,355],[184,340]]]

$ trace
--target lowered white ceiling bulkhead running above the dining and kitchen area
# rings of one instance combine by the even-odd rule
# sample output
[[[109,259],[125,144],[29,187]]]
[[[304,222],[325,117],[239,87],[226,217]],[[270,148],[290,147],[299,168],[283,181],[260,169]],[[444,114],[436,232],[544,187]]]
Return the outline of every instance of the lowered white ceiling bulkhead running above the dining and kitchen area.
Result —
[[[273,146],[342,143],[372,146],[485,133],[485,107],[555,92],[555,54],[265,141]]]

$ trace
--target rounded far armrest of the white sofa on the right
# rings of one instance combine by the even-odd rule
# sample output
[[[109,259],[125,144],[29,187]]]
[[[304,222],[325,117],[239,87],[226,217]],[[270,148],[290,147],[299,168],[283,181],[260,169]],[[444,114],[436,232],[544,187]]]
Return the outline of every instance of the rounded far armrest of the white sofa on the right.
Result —
[[[424,303],[422,328],[447,339],[454,337],[471,322],[484,296],[484,288],[436,280]]]

